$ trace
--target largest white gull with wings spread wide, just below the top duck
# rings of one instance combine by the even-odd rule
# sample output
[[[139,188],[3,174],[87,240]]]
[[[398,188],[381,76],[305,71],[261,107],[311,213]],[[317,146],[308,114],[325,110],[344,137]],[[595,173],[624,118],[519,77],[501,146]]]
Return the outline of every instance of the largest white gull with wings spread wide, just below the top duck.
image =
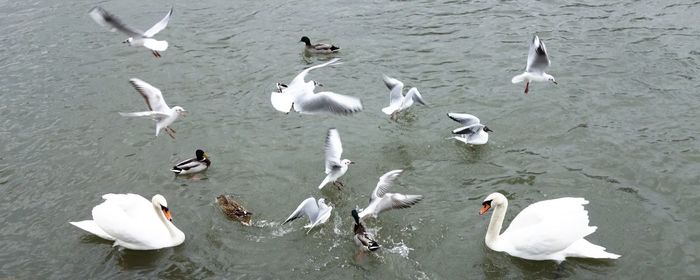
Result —
[[[304,80],[311,70],[337,64],[340,63],[338,58],[335,58],[304,69],[289,84],[277,83],[277,91],[270,95],[272,107],[284,113],[294,110],[302,114],[348,115],[362,111],[360,99],[330,91],[315,93],[316,87],[323,85],[314,80]]]

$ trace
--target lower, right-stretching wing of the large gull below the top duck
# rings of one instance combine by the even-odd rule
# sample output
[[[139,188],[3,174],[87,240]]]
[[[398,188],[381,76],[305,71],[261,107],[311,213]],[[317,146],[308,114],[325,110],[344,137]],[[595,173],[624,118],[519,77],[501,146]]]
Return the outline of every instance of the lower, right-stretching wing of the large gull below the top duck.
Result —
[[[294,100],[294,110],[300,113],[332,113],[348,115],[362,111],[362,101],[352,96],[323,91],[307,93]]]

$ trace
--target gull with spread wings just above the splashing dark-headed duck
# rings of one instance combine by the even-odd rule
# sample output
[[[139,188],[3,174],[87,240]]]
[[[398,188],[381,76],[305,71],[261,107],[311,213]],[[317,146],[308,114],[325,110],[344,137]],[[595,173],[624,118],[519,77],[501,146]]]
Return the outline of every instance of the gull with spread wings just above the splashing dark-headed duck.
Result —
[[[408,208],[423,200],[422,195],[406,195],[400,193],[388,193],[389,187],[394,183],[396,177],[401,175],[403,170],[392,170],[379,177],[377,187],[372,191],[369,199],[369,205],[360,212],[360,219],[364,220],[367,216],[374,218],[379,213],[391,210]]]

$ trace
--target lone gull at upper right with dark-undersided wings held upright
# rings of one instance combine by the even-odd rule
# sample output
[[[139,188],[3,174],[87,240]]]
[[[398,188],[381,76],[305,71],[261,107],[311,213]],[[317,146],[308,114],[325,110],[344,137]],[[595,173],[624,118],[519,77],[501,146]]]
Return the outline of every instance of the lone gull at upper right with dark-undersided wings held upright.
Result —
[[[535,35],[532,37],[532,41],[530,41],[530,51],[527,54],[527,67],[525,68],[525,72],[513,77],[511,82],[517,84],[525,81],[525,94],[529,91],[530,82],[532,81],[550,81],[556,85],[557,81],[554,80],[554,77],[544,72],[544,69],[550,64],[551,62],[549,61],[549,55],[547,53],[547,48],[544,46],[544,42]]]

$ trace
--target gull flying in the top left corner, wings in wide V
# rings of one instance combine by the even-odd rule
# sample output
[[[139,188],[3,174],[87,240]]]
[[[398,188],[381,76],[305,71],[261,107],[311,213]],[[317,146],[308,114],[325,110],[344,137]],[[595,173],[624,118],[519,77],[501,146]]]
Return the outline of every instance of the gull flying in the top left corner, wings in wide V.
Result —
[[[146,32],[129,28],[124,23],[122,23],[121,20],[119,20],[119,18],[117,18],[113,14],[110,14],[101,7],[92,8],[89,14],[90,17],[99,25],[110,28],[111,31],[119,30],[122,33],[125,33],[126,35],[129,35],[129,38],[124,40],[122,43],[127,43],[129,44],[129,46],[145,47],[151,50],[151,52],[156,58],[160,57],[159,52],[165,51],[168,48],[167,41],[158,41],[156,39],[153,39],[153,36],[165,29],[166,26],[168,26],[170,16],[173,14],[173,8],[170,8],[168,14],[165,15],[163,19],[161,19],[151,28],[146,30]]]

